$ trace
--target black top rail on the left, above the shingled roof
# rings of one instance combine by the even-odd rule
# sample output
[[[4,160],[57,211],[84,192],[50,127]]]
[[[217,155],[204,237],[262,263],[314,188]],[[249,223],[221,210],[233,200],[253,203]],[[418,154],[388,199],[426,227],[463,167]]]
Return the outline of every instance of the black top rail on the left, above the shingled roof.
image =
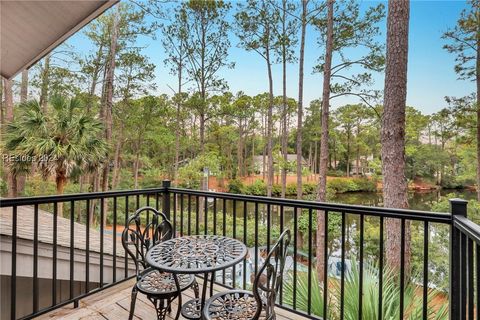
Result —
[[[145,194],[162,193],[165,188],[151,188],[151,189],[135,189],[135,190],[119,190],[119,191],[104,191],[104,192],[85,192],[72,193],[51,196],[37,196],[37,197],[21,197],[21,198],[0,198],[0,208],[12,206],[28,206],[34,204],[44,204],[52,202],[67,202],[72,200],[88,200],[101,199],[109,197],[134,196]]]

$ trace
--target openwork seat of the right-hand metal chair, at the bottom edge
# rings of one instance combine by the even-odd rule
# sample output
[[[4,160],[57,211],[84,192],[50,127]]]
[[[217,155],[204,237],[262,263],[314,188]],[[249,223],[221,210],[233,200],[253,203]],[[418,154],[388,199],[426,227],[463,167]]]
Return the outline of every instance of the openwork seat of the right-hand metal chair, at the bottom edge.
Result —
[[[245,290],[229,290],[217,293],[205,302],[205,319],[252,319],[258,304],[253,293]]]

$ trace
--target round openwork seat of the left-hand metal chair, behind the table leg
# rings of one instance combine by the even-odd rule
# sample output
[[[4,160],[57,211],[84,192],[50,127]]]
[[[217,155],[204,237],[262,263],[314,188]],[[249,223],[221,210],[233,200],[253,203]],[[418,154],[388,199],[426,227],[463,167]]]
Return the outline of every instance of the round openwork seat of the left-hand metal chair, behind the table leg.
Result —
[[[180,291],[189,288],[195,280],[191,274],[177,274]],[[147,295],[175,295],[178,289],[172,273],[160,272],[158,270],[145,271],[136,284],[139,291]]]

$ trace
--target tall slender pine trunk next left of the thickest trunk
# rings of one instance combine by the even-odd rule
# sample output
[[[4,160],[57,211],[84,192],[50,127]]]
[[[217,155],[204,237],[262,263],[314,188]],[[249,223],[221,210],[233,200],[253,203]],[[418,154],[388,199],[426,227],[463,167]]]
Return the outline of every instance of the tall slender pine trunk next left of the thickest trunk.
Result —
[[[320,140],[320,170],[317,192],[317,201],[325,201],[327,197],[327,167],[328,167],[328,117],[330,105],[330,77],[333,54],[333,5],[335,0],[328,0],[327,7],[327,43],[325,45],[325,63],[323,67],[323,92],[322,92],[322,136]],[[317,275],[323,279],[325,268],[325,212],[317,212]]]

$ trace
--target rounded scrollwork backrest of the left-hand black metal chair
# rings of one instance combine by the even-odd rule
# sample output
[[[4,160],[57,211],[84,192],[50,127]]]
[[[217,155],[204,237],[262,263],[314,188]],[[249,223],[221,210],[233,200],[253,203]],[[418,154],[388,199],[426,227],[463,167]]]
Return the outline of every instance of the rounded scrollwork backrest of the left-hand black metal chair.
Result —
[[[147,251],[161,241],[171,239],[172,236],[172,224],[164,213],[155,208],[140,208],[128,218],[127,226],[122,232],[122,245],[135,262],[137,276],[140,269],[148,268],[145,260]]]

